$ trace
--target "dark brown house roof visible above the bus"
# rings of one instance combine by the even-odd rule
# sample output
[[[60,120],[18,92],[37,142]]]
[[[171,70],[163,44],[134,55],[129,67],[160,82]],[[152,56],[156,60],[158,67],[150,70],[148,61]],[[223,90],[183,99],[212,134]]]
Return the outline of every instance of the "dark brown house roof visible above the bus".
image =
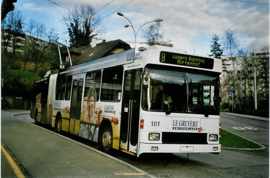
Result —
[[[80,53],[79,56],[72,60],[73,65],[81,64],[88,61],[93,61],[98,58],[110,55],[110,52],[116,48],[123,48],[124,50],[131,49],[130,45],[118,39],[108,42],[102,42],[95,47],[83,46],[73,49],[73,52]],[[68,64],[68,63],[67,63]]]

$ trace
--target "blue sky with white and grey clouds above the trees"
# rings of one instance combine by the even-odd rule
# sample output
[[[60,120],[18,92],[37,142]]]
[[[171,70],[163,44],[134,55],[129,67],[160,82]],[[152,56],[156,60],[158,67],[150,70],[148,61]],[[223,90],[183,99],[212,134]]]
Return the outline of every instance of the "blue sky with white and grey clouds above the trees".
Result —
[[[242,0],[240,0],[242,1]],[[269,44],[269,1],[268,0],[17,0],[15,9],[24,16],[24,23],[30,19],[44,23],[46,28],[54,28],[60,35],[59,41],[69,41],[67,27],[61,22],[75,3],[87,3],[100,16],[101,28],[105,29],[98,39],[121,39],[134,47],[135,35],[129,22],[117,12],[122,12],[134,26],[135,32],[146,22],[161,18],[163,40],[170,41],[175,48],[188,53],[210,54],[212,37],[217,34],[221,48],[224,48],[224,31],[231,29],[238,39],[238,48],[249,52]],[[54,4],[54,3],[56,4]],[[122,7],[123,6],[123,7]],[[122,7],[122,8],[121,8]],[[121,9],[119,9],[121,8]],[[115,11],[115,12],[114,12]],[[114,13],[113,13],[114,12]],[[111,14],[112,13],[112,14]],[[110,15],[111,14],[111,15]],[[148,23],[142,27],[147,28]],[[138,47],[147,47],[142,29],[136,37]],[[101,42],[97,40],[97,43]],[[224,48],[226,55],[226,49]],[[237,55],[235,53],[235,55]]]

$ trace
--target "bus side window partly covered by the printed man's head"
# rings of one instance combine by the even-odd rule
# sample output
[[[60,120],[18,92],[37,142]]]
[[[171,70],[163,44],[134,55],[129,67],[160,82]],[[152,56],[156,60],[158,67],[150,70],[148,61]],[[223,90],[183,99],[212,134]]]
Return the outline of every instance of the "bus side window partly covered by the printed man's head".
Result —
[[[100,91],[100,85],[101,85],[101,71],[96,72],[88,72],[85,77],[85,86],[84,86],[84,100],[87,99],[88,91],[91,86],[93,86],[96,89],[97,93],[97,99],[95,101],[99,100],[99,91]]]

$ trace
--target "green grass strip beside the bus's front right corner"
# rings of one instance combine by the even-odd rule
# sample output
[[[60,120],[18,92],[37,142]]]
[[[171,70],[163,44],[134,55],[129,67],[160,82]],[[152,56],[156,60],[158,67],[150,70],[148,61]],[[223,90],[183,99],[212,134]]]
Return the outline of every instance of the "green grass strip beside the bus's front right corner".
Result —
[[[260,145],[221,129],[219,143],[226,148],[261,148]]]

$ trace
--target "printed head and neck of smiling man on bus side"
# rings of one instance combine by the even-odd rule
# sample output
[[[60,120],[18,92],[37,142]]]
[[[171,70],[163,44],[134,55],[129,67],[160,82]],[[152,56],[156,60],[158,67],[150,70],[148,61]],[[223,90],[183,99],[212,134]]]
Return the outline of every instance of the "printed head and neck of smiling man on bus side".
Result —
[[[87,113],[88,113],[88,122],[93,123],[94,122],[94,112],[96,108],[96,100],[97,100],[97,92],[96,89],[91,86],[88,91],[88,102],[87,102]],[[89,126],[90,127],[90,126]]]

